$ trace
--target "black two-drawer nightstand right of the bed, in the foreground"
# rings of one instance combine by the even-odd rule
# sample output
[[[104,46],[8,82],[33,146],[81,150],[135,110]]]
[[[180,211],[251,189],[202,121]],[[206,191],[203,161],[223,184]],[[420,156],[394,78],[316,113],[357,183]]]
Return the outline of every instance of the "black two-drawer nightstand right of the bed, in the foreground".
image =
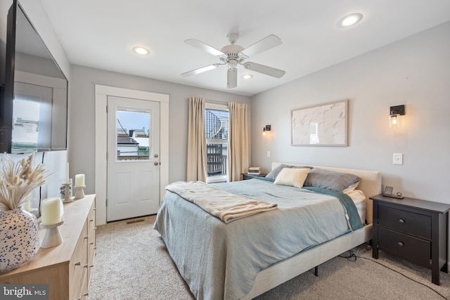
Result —
[[[378,251],[431,269],[440,285],[439,271],[449,273],[447,220],[450,204],[377,195],[373,200],[372,257]]]

